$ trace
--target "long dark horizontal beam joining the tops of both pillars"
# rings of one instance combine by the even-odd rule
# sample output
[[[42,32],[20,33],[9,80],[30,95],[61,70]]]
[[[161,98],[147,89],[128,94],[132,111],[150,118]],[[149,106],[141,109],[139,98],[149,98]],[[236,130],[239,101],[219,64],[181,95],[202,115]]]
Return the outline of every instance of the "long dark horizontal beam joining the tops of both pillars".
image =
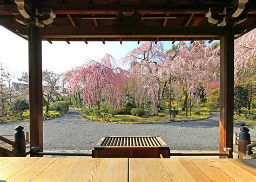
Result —
[[[26,35],[26,27],[17,30]],[[234,27],[236,34],[245,27]],[[96,26],[96,27],[42,27],[39,34],[43,38],[219,38],[225,27],[205,26]]]

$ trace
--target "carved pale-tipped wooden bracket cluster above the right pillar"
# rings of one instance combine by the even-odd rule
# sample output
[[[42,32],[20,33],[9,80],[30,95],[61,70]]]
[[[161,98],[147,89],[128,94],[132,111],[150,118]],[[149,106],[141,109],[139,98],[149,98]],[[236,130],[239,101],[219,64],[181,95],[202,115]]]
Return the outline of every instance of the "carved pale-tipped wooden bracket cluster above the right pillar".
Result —
[[[209,23],[218,26],[226,26],[227,23],[240,24],[247,19],[249,12],[246,8],[247,2],[248,0],[237,0],[233,5],[224,9],[210,8],[205,17]]]

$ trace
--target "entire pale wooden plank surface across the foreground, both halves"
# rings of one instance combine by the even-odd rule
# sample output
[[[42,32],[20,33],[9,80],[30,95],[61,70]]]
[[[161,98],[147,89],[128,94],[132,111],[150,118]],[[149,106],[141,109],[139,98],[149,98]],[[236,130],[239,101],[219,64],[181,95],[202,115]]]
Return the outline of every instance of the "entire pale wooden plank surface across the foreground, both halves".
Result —
[[[256,181],[256,160],[0,157],[0,181]]]

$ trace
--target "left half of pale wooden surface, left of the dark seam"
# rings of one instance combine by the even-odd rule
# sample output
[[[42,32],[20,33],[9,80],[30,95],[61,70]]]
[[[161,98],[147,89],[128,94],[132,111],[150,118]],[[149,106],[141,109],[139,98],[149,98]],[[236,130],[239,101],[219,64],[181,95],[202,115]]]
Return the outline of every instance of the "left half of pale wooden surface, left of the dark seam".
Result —
[[[0,181],[127,181],[127,158],[0,157]]]

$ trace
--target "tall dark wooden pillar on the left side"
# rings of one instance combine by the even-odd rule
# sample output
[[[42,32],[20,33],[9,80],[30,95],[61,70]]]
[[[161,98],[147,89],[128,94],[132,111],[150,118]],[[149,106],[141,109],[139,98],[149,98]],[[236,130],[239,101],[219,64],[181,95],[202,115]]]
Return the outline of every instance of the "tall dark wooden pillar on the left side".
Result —
[[[36,25],[28,26],[30,148],[43,151],[42,40]]]

